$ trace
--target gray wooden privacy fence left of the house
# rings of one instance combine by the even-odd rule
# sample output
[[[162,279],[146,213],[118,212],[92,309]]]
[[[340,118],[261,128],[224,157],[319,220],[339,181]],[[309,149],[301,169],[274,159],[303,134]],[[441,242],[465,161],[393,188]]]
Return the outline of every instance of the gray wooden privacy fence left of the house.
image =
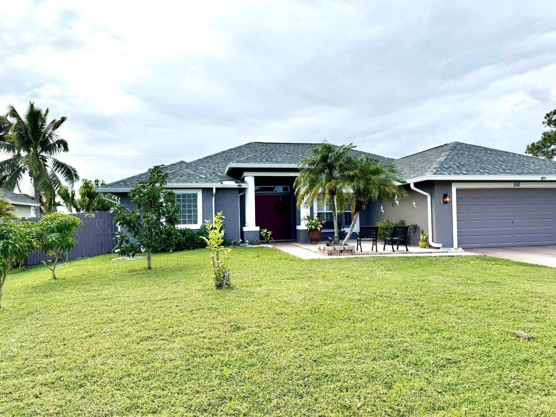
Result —
[[[68,251],[68,259],[86,258],[90,256],[110,254],[117,244],[118,227],[114,222],[114,215],[110,211],[91,211],[73,214],[83,222],[77,228],[77,240],[73,249]],[[23,219],[37,222],[37,217]],[[38,265],[41,258],[37,252],[29,254],[23,265]]]

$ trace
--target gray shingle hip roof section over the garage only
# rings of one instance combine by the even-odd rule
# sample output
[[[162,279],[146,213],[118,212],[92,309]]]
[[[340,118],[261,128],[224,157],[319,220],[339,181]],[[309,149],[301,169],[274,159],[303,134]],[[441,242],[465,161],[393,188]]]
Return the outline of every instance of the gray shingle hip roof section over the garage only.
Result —
[[[406,179],[424,175],[556,175],[556,162],[463,142],[446,143],[395,161]]]

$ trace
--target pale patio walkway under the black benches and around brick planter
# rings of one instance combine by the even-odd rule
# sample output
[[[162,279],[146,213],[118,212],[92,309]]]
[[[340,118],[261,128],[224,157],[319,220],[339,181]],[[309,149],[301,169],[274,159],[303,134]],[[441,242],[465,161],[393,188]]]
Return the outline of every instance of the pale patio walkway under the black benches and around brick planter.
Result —
[[[324,243],[324,242],[323,242]],[[355,239],[349,241],[350,245],[355,246]],[[341,259],[341,258],[353,258],[353,257],[368,257],[368,256],[481,256],[477,254],[469,254],[468,252],[450,252],[446,249],[433,249],[425,248],[421,249],[419,246],[408,245],[409,252],[405,251],[405,246],[400,246],[400,250],[392,252],[392,247],[386,246],[386,250],[383,251],[383,245],[380,245],[378,252],[374,252],[369,255],[346,255],[346,256],[328,256],[322,255],[317,251],[317,245],[310,244],[300,244],[297,242],[272,242],[272,246],[276,247],[281,251],[287,252],[290,255],[297,256],[301,259]],[[363,252],[371,252],[372,244],[368,241],[363,241]],[[395,246],[394,246],[395,248]]]

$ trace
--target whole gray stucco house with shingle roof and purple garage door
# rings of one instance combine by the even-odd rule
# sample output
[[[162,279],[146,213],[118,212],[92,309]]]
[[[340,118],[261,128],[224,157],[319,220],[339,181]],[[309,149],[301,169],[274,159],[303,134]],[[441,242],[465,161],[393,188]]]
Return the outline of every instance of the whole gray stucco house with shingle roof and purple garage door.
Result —
[[[229,239],[257,241],[260,229],[276,240],[307,242],[301,219],[310,214],[331,220],[330,206],[314,202],[296,208],[296,163],[314,143],[250,142],[195,161],[164,166],[168,188],[176,192],[179,227],[198,229],[216,212],[226,216]],[[355,150],[394,162],[405,178],[408,197],[393,207],[370,203],[360,226],[381,219],[403,219],[430,235],[432,247],[497,247],[556,244],[556,162],[452,142],[399,159]],[[146,179],[148,172],[98,188],[120,196]],[[351,212],[339,214],[349,225]],[[332,230],[323,230],[329,236]],[[324,237],[323,237],[324,239]]]

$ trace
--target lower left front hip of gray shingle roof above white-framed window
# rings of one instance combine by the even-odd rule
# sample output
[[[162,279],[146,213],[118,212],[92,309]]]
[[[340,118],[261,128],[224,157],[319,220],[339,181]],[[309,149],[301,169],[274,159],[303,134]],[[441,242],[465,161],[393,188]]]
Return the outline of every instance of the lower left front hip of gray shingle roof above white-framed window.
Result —
[[[221,175],[203,167],[193,165],[191,162],[178,161],[161,167],[162,172],[168,173],[167,187],[180,186],[180,185],[199,185],[199,186],[215,186],[215,185],[229,185],[229,186],[242,186],[245,182],[236,180],[227,175]],[[138,185],[139,180],[148,180],[148,171],[141,172],[140,174],[131,177],[123,178],[123,180],[111,182],[105,186],[98,188],[100,191],[114,192],[121,189],[121,191],[130,190]]]

